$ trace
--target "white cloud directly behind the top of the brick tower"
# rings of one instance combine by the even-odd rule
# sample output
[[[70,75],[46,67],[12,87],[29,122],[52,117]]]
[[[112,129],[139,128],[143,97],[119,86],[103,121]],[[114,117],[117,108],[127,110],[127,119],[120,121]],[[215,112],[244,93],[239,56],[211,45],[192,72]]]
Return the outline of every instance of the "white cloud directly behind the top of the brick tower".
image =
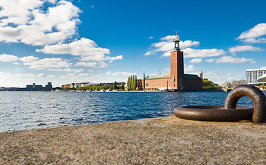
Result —
[[[144,55],[155,54],[156,52],[164,52],[162,56],[170,56],[169,52],[173,50],[173,41],[175,40],[175,36],[164,36],[160,39],[161,42],[153,43],[151,46],[155,47],[155,50],[151,50],[146,52]],[[191,46],[200,45],[197,41],[180,41],[180,47],[185,49]],[[166,54],[167,53],[167,54]]]

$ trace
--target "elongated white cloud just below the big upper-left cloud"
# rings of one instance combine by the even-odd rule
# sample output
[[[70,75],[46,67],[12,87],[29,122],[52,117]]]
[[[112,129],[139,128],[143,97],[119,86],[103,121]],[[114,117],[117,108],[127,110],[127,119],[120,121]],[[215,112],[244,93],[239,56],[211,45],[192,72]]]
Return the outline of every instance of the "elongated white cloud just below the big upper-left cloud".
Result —
[[[57,43],[55,45],[46,45],[44,49],[36,50],[45,54],[72,54],[80,56],[80,61],[114,61],[122,60],[123,56],[106,56],[110,50],[98,45],[90,39],[79,39],[71,43]]]

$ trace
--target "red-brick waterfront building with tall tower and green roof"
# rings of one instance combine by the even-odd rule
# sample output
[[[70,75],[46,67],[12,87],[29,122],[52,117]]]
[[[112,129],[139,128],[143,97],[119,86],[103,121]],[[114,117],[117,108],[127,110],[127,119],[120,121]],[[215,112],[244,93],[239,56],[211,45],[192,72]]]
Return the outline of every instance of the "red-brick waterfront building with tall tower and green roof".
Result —
[[[171,73],[145,76],[137,80],[139,90],[198,90],[202,89],[202,72],[200,77],[195,74],[184,74],[184,54],[180,51],[178,36],[171,52]]]

